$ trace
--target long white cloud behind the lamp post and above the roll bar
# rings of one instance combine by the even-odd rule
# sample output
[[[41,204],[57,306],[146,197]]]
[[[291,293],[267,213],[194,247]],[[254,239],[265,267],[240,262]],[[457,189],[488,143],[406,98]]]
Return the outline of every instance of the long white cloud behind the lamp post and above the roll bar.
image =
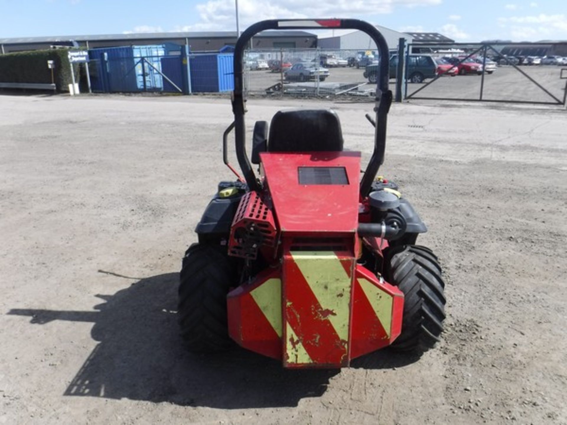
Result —
[[[240,0],[238,2],[241,29],[263,19],[312,18],[313,16],[354,17],[391,13],[396,7],[440,5],[442,0]],[[234,30],[236,27],[234,0],[209,0],[196,6],[199,22],[180,26],[182,31]]]

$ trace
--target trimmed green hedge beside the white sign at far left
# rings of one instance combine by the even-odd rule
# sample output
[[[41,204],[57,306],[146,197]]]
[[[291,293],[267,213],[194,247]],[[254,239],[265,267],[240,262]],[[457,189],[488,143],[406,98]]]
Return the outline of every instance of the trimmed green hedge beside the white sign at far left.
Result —
[[[0,54],[0,82],[2,83],[51,83],[51,70],[47,61],[55,62],[54,80],[58,92],[69,92],[71,69],[68,49],[36,50]],[[75,78],[79,82],[78,66]]]

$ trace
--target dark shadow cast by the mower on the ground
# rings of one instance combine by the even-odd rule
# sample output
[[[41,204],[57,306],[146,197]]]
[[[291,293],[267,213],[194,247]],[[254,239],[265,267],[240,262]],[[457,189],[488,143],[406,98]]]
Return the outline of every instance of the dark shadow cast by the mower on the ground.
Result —
[[[97,295],[98,311],[12,309],[31,323],[93,322],[99,344],[73,378],[65,396],[129,398],[222,409],[297,406],[319,397],[338,370],[286,370],[280,362],[235,348],[196,356],[177,333],[177,273],[141,279],[115,295]]]

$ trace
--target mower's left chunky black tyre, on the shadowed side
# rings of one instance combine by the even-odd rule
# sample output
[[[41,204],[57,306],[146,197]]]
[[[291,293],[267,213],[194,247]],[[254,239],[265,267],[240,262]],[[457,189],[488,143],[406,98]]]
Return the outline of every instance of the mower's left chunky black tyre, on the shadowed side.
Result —
[[[177,316],[189,351],[215,352],[231,346],[226,295],[234,280],[230,259],[217,248],[193,244],[185,252]]]

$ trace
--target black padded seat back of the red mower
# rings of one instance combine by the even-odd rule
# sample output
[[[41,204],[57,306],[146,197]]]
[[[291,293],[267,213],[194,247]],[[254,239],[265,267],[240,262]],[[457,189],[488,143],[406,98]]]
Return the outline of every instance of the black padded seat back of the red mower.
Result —
[[[342,151],[341,122],[332,109],[279,111],[272,118],[268,152]]]

